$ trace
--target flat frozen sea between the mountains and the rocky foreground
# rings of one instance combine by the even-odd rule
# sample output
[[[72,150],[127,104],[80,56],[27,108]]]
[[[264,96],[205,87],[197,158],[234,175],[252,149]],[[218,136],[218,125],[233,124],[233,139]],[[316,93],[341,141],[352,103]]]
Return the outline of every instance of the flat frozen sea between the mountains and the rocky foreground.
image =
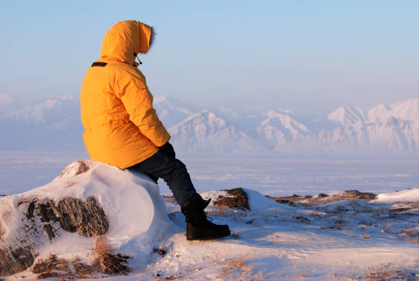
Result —
[[[86,151],[0,151],[0,194],[51,182]],[[383,193],[419,186],[418,157],[180,155],[198,192],[244,187],[265,195],[316,195],[348,189]],[[162,193],[170,193],[159,181]]]

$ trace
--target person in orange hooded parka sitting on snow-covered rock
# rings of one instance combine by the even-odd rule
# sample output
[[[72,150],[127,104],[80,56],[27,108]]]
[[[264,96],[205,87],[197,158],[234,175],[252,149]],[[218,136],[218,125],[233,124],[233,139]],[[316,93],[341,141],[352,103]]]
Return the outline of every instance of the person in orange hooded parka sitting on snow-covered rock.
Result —
[[[228,225],[208,221],[203,200],[186,166],[175,158],[170,134],[153,108],[153,95],[135,62],[153,42],[153,28],[139,21],[120,21],[103,39],[101,58],[81,84],[81,122],[90,158],[162,178],[186,217],[188,240],[217,239],[230,234]]]

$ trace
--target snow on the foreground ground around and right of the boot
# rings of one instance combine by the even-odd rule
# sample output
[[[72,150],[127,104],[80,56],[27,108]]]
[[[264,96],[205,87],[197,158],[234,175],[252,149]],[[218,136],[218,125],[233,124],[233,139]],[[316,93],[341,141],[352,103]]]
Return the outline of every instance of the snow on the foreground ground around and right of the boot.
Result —
[[[177,233],[164,245],[164,249],[169,249],[165,256],[156,257],[145,271],[123,280],[148,280],[157,274],[162,279],[182,280],[357,280],[380,269],[406,270],[409,274],[403,279],[419,276],[417,245],[396,234],[399,228],[411,225],[414,218],[402,220],[399,225],[389,223],[377,219],[374,213],[388,210],[389,206],[340,201],[329,204],[328,212],[313,212],[311,223],[307,224],[294,219],[303,214],[309,216],[303,208],[277,204],[266,197],[262,199],[263,195],[256,191],[244,190],[255,208],[250,212],[232,210],[220,215],[210,208],[214,221],[228,223],[235,236],[188,242],[182,233]],[[224,191],[205,194],[226,195]],[[341,209],[351,204],[359,210]],[[337,211],[339,214],[333,215]],[[335,225],[340,229],[335,229]]]

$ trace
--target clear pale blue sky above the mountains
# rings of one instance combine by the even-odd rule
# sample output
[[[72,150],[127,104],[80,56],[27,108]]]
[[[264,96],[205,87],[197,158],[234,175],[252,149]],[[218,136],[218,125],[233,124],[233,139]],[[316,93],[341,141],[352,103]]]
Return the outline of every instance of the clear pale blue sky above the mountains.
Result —
[[[329,112],[419,97],[419,1],[2,1],[0,93],[79,95],[107,29],[153,25],[155,96]]]

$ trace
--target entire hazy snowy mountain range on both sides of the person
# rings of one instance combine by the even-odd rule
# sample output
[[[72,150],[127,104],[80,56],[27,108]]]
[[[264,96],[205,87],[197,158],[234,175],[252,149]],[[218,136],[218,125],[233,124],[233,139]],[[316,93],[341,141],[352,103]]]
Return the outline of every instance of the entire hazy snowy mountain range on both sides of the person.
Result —
[[[177,151],[199,154],[411,154],[419,151],[419,99],[369,110],[342,106],[320,119],[290,110],[238,114],[172,97],[155,97],[157,114]],[[38,103],[0,95],[3,149],[83,147],[79,100]]]

